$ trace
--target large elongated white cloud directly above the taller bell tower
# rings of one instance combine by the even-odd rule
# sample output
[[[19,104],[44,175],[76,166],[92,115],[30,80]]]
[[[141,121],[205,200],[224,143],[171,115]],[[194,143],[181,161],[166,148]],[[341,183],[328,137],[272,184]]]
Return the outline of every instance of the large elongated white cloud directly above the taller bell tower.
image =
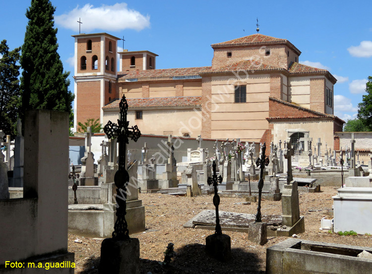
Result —
[[[134,9],[129,9],[126,3],[100,7],[94,7],[92,4],[85,4],[83,7],[77,5],[70,12],[55,16],[58,25],[75,32],[79,30],[79,24],[76,22],[79,18],[81,18],[83,33],[94,29],[106,32],[124,29],[139,31],[150,26],[149,15],[144,16]]]

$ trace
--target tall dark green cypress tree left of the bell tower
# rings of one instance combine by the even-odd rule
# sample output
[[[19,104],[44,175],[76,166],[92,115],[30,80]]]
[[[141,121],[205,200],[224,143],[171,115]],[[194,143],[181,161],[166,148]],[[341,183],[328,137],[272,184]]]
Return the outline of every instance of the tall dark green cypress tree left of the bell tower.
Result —
[[[22,114],[27,109],[69,112],[73,121],[74,95],[68,90],[69,72],[63,72],[57,53],[57,28],[54,28],[56,8],[50,0],[31,0],[26,11],[29,19],[22,46],[21,77]]]

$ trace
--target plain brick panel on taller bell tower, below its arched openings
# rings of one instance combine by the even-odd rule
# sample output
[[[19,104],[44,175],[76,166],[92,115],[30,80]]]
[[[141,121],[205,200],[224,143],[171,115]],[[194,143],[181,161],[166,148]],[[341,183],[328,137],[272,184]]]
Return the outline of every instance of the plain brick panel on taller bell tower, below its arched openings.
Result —
[[[77,110],[76,124],[84,123],[87,119],[100,118],[101,106],[101,81],[77,82]],[[79,126],[78,126],[79,128]]]

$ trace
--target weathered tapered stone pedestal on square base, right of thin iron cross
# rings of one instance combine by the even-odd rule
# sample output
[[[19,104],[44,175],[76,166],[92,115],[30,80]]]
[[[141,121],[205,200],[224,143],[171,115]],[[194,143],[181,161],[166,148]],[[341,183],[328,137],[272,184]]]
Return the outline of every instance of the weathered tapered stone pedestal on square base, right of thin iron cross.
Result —
[[[278,236],[292,236],[305,232],[305,219],[300,217],[300,202],[297,182],[284,185],[282,191],[282,227],[277,230]]]

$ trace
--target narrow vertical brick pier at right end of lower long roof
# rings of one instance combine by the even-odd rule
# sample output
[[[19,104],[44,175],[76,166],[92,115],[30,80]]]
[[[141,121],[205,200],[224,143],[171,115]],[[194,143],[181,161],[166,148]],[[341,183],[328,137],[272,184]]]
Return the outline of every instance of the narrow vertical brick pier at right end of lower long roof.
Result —
[[[201,137],[211,138],[211,94],[212,94],[212,78],[203,77],[201,79]]]

